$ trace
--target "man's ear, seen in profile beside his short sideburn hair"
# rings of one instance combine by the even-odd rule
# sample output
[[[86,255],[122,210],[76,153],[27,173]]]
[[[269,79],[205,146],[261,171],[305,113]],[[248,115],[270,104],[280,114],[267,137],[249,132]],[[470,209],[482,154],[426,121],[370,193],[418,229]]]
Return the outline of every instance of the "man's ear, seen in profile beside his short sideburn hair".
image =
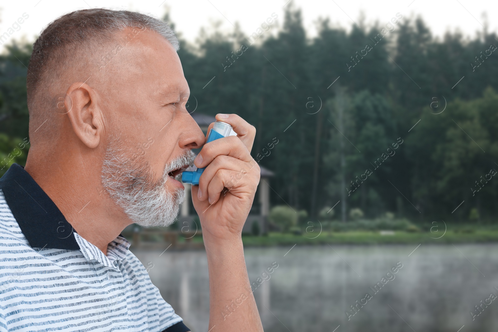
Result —
[[[89,148],[96,148],[104,130],[98,93],[88,84],[76,82],[66,91],[65,115],[69,118],[76,136]]]

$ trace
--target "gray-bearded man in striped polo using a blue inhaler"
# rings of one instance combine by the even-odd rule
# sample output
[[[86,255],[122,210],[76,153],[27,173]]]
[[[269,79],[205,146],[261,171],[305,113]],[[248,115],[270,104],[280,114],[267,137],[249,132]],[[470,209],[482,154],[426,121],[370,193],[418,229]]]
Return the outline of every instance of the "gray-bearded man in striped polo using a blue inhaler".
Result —
[[[0,331],[189,331],[120,236],[133,222],[174,221],[174,178],[205,143],[185,109],[178,47],[164,22],[107,9],[63,15],[34,43],[31,147],[25,168],[0,179]],[[206,331],[262,331],[241,239],[259,182],[255,129],[236,114],[216,118],[237,136],[195,159],[207,166],[192,188],[209,266]]]

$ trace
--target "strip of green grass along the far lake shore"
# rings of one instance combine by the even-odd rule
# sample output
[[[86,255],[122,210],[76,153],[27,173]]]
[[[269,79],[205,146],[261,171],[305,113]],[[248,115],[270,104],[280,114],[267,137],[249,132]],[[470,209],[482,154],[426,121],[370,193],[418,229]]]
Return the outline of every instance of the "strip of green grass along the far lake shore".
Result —
[[[498,242],[498,230],[477,229],[473,232],[447,231],[441,238],[440,234],[431,232],[395,231],[393,235],[380,235],[378,231],[346,231],[322,232],[316,238],[310,234],[282,234],[270,232],[267,236],[244,235],[242,240],[246,246],[271,246],[293,244],[384,244],[384,243],[476,243]]]

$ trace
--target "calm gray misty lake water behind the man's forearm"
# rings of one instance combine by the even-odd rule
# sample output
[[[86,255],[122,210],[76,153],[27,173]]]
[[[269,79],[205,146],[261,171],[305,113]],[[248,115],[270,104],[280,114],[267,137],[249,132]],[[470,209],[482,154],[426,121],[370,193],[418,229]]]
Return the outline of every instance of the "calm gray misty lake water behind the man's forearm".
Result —
[[[498,299],[490,296],[498,295],[498,244],[289,249],[245,249],[265,331],[498,331]],[[205,252],[132,251],[145,267],[153,264],[152,282],[185,324],[207,332]]]

